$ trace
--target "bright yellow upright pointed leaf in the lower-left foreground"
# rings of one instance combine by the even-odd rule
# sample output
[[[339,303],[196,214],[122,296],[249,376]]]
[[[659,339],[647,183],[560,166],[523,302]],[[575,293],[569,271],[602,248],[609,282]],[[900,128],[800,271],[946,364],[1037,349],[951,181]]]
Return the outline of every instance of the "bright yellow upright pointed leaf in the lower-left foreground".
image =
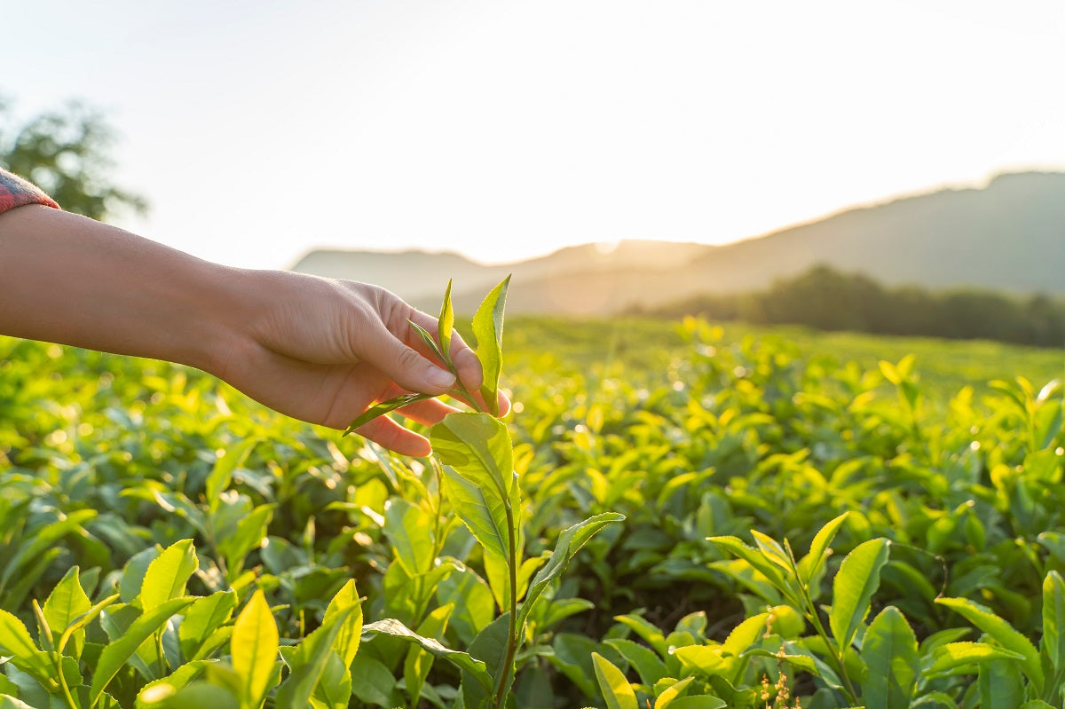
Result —
[[[241,678],[242,704],[261,707],[277,662],[277,622],[262,590],[257,590],[236,616],[229,653]]]

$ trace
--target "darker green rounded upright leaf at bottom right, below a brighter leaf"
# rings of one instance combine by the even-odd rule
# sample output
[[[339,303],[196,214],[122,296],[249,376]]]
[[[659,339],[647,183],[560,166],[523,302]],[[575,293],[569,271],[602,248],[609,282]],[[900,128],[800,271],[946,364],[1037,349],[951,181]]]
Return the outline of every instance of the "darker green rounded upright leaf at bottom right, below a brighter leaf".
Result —
[[[862,682],[866,709],[908,709],[920,675],[917,636],[894,606],[869,624],[862,660],[868,669]]]

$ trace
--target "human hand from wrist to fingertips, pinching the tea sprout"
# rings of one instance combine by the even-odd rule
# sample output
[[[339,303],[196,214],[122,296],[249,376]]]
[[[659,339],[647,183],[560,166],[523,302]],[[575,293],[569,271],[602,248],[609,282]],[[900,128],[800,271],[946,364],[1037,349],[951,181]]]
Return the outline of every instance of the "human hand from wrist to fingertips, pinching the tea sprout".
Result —
[[[240,316],[231,318],[235,342],[224,348],[211,368],[272,409],[343,429],[376,401],[408,392],[446,394],[457,385],[442,363],[432,361],[408,323],[436,332],[437,318],[392,293],[288,271],[236,274],[236,292],[250,298],[242,299]],[[462,384],[477,392],[480,363],[457,332],[449,353]],[[501,394],[501,415],[509,409],[509,400]],[[436,398],[397,410],[428,425],[455,411]],[[388,416],[356,432],[403,455],[430,452],[424,436]]]

